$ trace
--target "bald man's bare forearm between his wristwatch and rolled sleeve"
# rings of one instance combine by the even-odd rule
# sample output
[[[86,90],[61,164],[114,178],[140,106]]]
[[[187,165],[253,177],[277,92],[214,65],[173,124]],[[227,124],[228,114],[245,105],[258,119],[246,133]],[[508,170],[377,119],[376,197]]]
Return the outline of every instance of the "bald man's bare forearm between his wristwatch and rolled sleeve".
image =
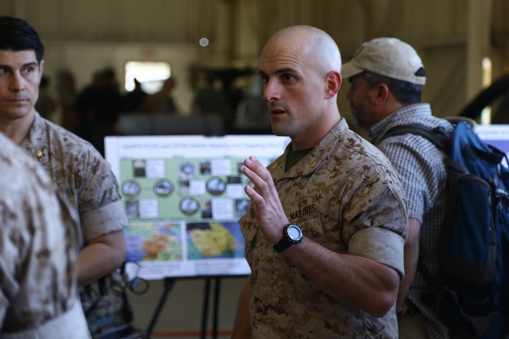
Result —
[[[325,293],[338,301],[384,316],[394,304],[399,274],[371,259],[332,252],[304,237],[282,252]]]

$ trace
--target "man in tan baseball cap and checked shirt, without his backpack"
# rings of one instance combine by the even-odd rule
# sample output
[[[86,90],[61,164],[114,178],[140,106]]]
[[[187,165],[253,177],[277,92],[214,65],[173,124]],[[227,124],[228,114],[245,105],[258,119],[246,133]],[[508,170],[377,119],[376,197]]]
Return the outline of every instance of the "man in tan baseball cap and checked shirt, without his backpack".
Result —
[[[447,120],[432,116],[429,104],[420,103],[426,83],[424,66],[415,49],[399,39],[377,38],[363,43],[343,64],[341,76],[351,84],[347,99],[355,124],[369,131],[370,141],[397,169],[408,199],[405,279],[396,302],[399,337],[448,338],[448,328],[422,301],[422,294],[432,291],[421,269],[417,270],[421,256],[425,270],[432,275],[437,272],[435,249],[446,208],[445,155],[419,135],[383,136],[400,125],[421,124],[446,132],[453,127]]]

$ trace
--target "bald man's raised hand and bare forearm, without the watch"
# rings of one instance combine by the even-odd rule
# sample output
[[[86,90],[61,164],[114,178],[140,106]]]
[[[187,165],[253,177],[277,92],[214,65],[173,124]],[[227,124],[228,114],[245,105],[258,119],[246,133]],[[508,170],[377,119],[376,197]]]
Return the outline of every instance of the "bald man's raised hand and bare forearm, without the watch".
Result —
[[[289,220],[271,174],[254,157],[246,159],[244,165],[244,174],[258,190],[248,185],[245,187],[247,196],[254,204],[260,230],[267,241],[276,244],[281,240],[282,226],[288,224]],[[397,241],[396,237],[391,239]],[[403,253],[403,243],[400,245],[397,254]],[[359,253],[363,253],[362,250]],[[400,276],[388,266],[361,256],[330,251],[307,237],[283,251],[282,255],[317,287],[338,301],[374,317],[382,317],[394,305]]]

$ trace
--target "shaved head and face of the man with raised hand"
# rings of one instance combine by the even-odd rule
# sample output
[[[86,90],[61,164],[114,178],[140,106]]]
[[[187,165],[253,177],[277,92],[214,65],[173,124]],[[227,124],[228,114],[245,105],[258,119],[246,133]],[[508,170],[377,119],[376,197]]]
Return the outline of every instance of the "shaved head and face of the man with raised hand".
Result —
[[[323,30],[291,26],[274,34],[258,71],[272,132],[290,136],[294,150],[314,147],[341,119],[340,72],[340,50]]]

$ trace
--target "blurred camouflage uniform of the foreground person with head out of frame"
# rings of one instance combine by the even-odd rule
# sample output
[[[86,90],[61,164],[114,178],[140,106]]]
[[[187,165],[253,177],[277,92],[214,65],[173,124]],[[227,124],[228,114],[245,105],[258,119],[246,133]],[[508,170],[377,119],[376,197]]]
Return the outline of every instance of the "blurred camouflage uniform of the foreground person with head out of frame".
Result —
[[[89,338],[76,225],[44,169],[2,133],[0,145],[0,338]]]

